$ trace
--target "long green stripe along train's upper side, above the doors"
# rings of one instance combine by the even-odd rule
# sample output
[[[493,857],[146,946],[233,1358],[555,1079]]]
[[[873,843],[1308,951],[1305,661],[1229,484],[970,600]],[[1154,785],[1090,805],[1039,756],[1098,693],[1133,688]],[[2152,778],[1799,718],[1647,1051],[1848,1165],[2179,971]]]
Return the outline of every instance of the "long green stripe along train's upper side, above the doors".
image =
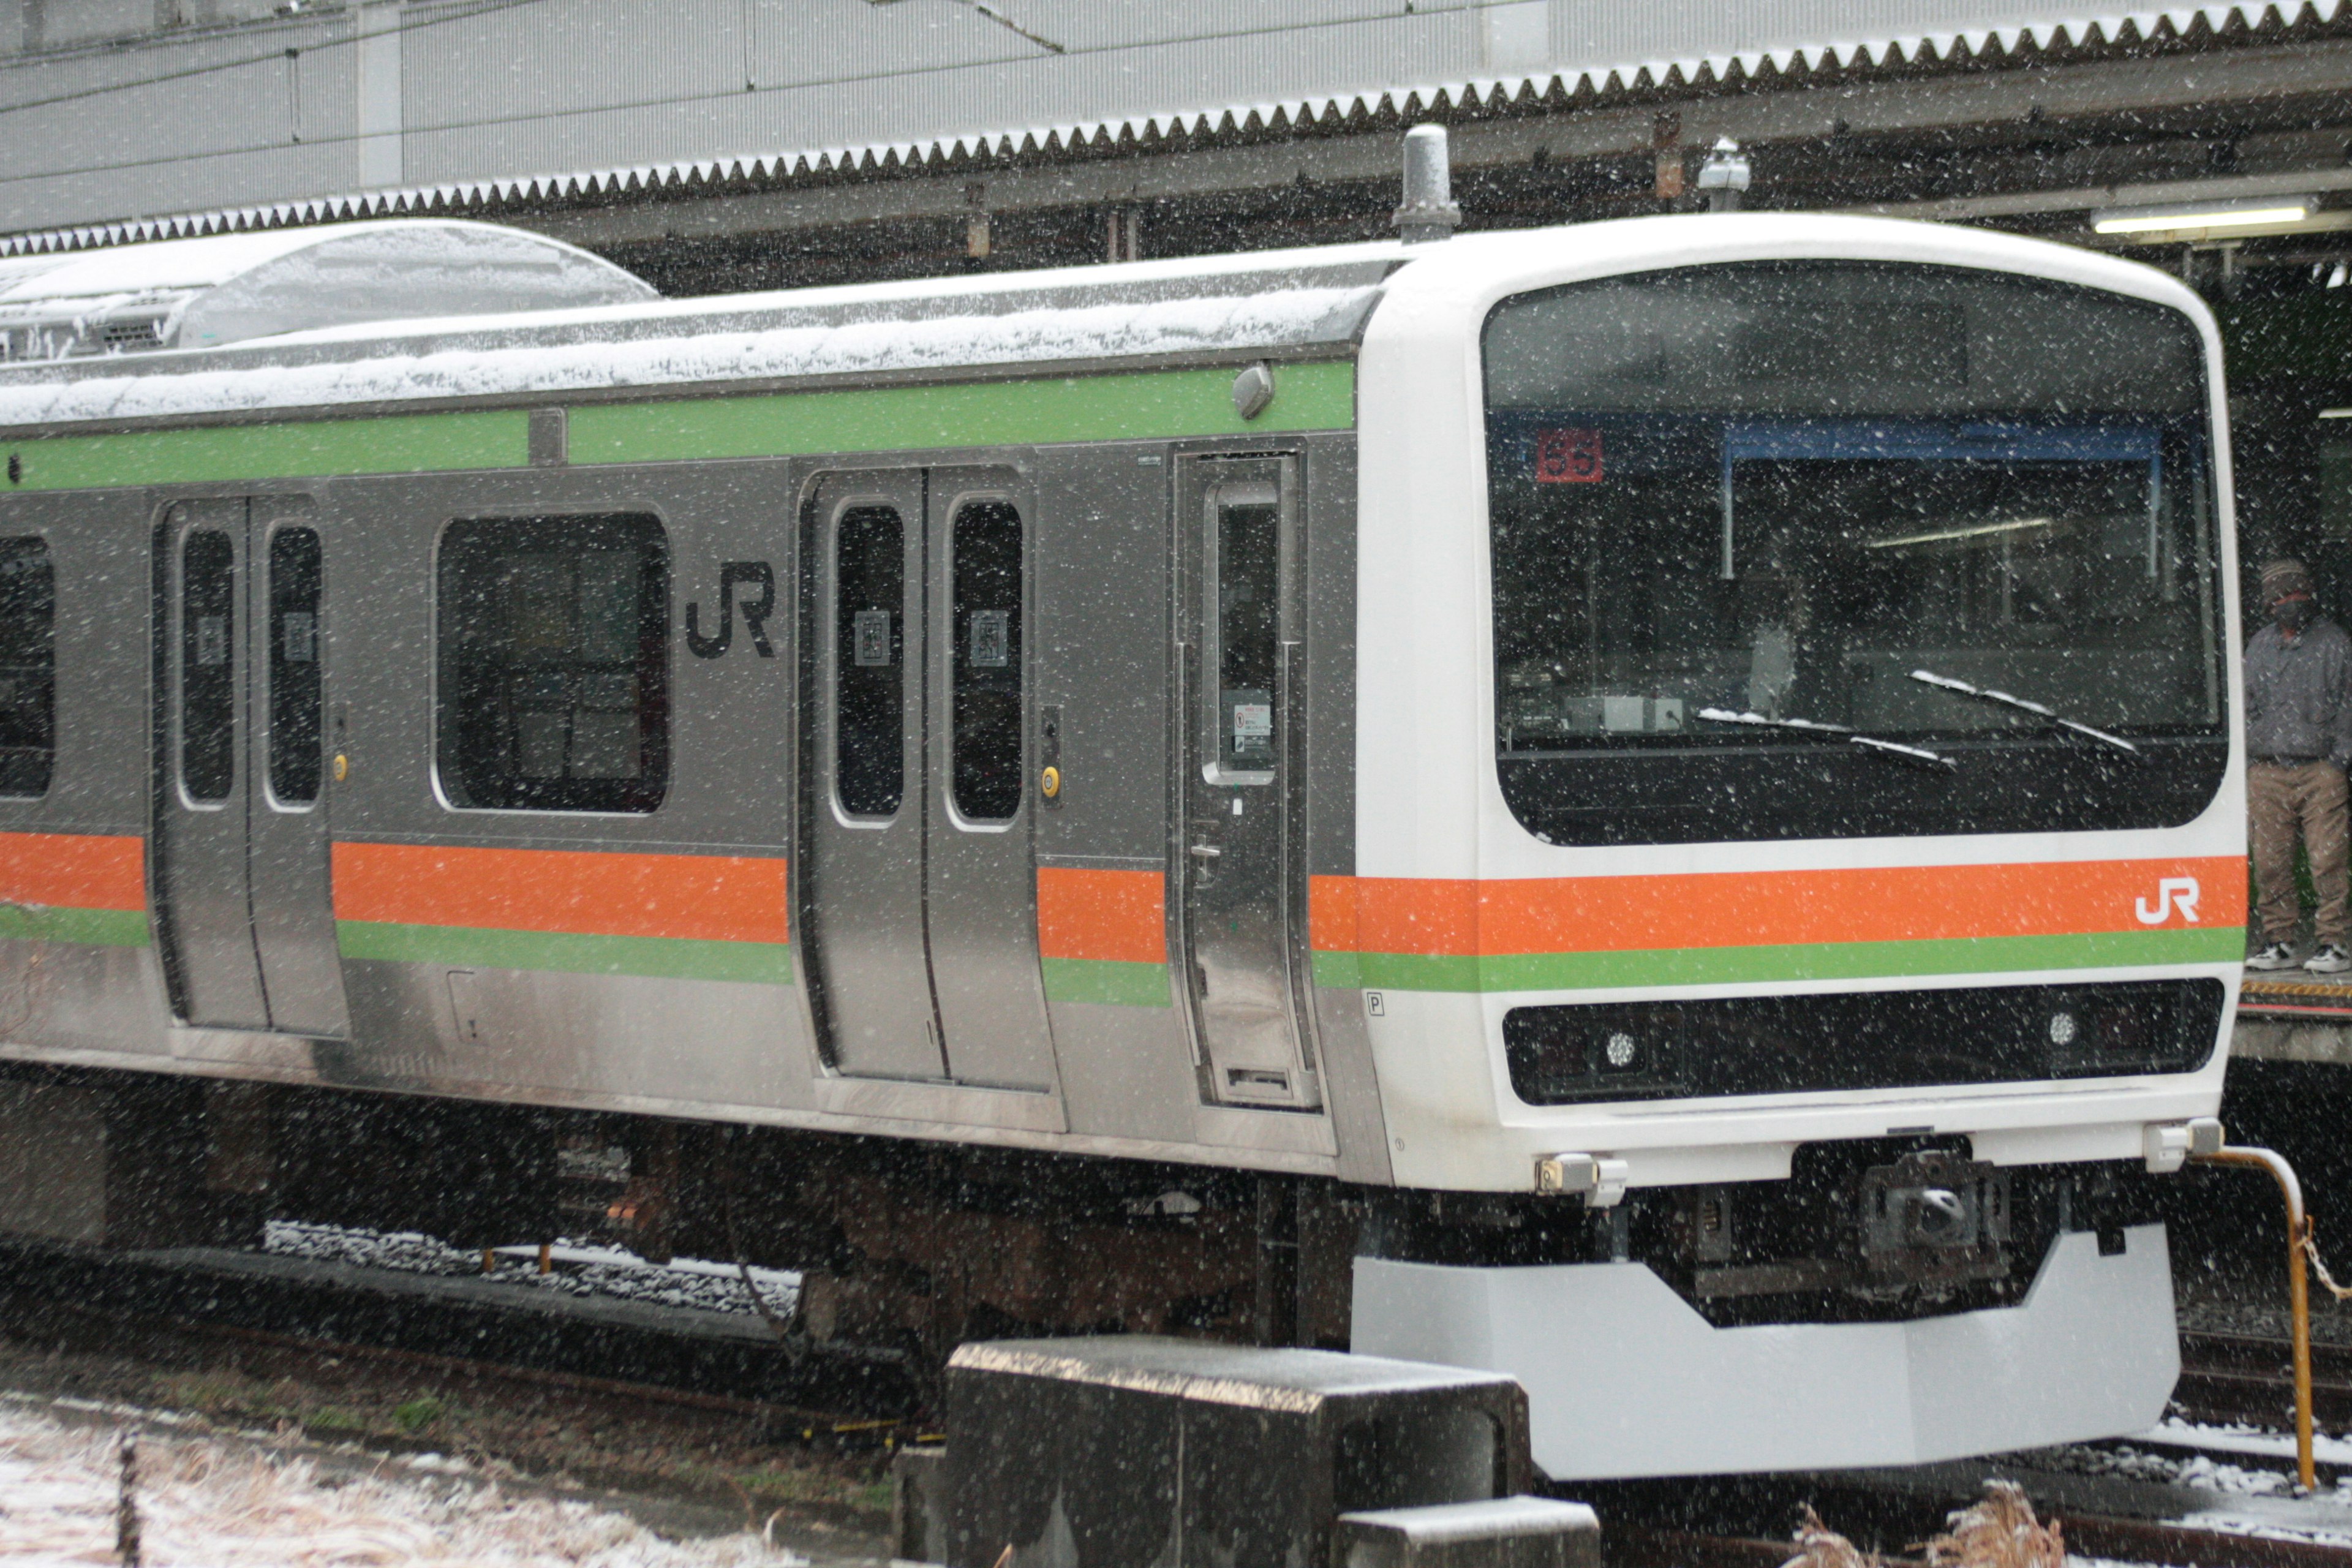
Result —
[[[604,402],[572,409],[569,454],[574,463],[680,463],[1355,425],[1355,364],[1284,364],[1275,386],[1275,402],[1247,423],[1232,409],[1230,369]],[[529,414],[372,414],[47,435],[9,442],[7,451],[21,463],[19,489],[524,468]]]

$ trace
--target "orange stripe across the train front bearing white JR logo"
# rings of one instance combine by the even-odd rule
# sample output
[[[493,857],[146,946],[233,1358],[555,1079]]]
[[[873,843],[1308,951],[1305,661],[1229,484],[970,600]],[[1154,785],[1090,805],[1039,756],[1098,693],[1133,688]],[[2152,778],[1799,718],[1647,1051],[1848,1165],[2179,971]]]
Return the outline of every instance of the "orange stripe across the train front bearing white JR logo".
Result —
[[[2197,884],[2194,919],[2180,891]],[[1646,952],[2246,924],[2246,863],[2056,860],[1677,877],[1315,877],[1324,952]],[[2157,919],[2147,919],[2154,914]]]

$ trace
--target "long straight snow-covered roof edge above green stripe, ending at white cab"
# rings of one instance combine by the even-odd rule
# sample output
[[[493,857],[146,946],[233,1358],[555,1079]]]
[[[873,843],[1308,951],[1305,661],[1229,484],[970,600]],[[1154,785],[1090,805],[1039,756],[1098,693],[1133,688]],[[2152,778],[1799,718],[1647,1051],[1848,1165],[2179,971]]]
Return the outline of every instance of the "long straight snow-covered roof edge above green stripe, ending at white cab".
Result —
[[[1404,256],[1397,242],[1190,256],[0,364],[0,428],[1343,346]]]

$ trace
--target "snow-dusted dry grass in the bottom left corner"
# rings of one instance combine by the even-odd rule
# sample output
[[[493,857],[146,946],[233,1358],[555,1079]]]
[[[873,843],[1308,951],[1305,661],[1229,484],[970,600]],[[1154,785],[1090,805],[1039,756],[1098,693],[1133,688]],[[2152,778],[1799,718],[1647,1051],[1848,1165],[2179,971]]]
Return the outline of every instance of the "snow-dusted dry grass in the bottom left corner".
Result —
[[[0,1563],[113,1563],[120,1432],[0,1406]],[[757,1535],[668,1542],[588,1502],[510,1497],[452,1460],[322,1472],[315,1460],[181,1434],[139,1436],[148,1568],[802,1568]],[[426,1460],[426,1462],[419,1462]]]

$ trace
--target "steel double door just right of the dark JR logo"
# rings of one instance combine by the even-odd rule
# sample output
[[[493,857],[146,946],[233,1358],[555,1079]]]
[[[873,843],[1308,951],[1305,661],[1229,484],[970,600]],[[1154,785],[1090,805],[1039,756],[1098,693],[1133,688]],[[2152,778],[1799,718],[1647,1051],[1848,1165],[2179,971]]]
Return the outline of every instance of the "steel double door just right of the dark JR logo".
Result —
[[[800,945],[851,1077],[1051,1088],[1028,520],[997,470],[844,473],[802,541]]]

